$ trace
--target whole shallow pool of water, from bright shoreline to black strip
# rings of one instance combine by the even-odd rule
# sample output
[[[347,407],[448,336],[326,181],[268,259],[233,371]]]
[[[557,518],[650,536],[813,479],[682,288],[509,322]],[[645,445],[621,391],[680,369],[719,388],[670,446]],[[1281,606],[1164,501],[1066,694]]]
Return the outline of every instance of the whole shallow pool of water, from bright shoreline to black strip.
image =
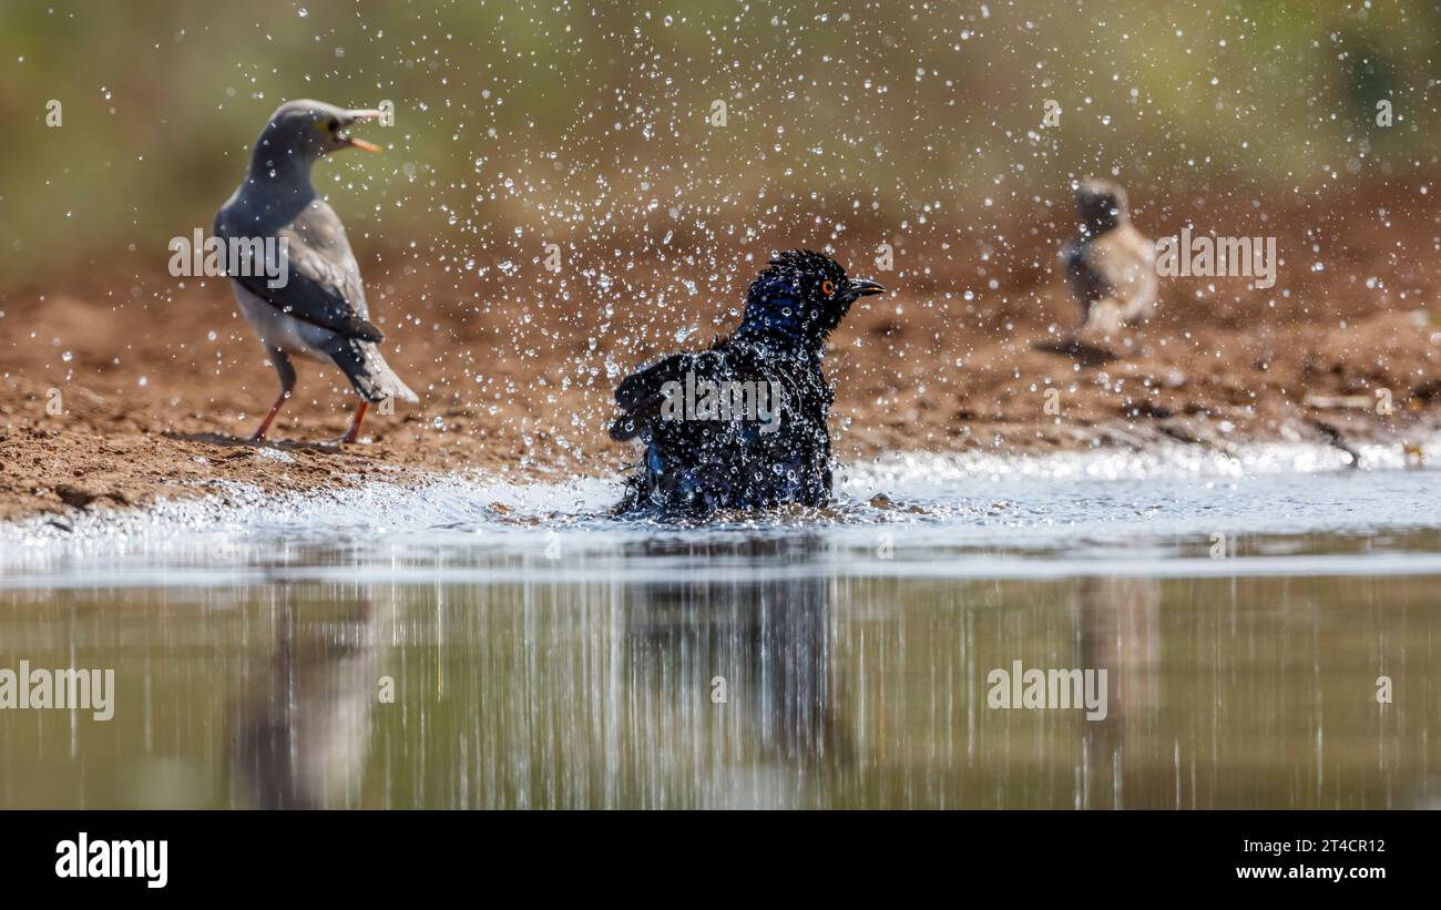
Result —
[[[115,671],[111,720],[0,711],[0,805],[1441,805],[1441,471],[1363,455],[895,458],[703,528],[484,479],[0,528],[0,668]],[[1105,717],[989,707],[1013,661],[1105,670]]]

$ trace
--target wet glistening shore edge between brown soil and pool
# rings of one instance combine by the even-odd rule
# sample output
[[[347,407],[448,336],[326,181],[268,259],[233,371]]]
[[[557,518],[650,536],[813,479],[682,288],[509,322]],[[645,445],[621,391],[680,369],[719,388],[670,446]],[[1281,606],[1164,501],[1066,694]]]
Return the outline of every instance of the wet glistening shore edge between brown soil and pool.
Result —
[[[994,433],[991,445],[983,445],[987,432]],[[68,446],[73,455],[76,442],[62,435],[37,433],[20,454],[32,454],[36,464],[43,464],[61,448]],[[115,443],[92,441],[99,448]],[[151,443],[159,449],[179,448],[163,459],[182,469],[156,475],[146,461],[117,461],[94,477],[71,477],[30,488],[0,484],[0,541],[110,537],[140,527],[244,533],[259,520],[324,530],[330,520],[327,510],[336,505],[360,510],[356,520],[366,508],[373,508],[375,521],[383,524],[386,508],[435,490],[444,490],[442,495],[454,504],[457,514],[450,517],[455,521],[543,526],[548,518],[604,515],[607,495],[620,495],[624,469],[614,458],[581,469],[522,458],[437,471],[386,461],[383,446],[372,452],[366,445],[256,443],[223,435],[163,436]],[[964,491],[967,481],[994,475],[1043,479],[1087,474],[1101,479],[1147,479],[1417,469],[1441,455],[1441,419],[1396,423],[1311,416],[1306,423],[1259,438],[1231,435],[1215,423],[1182,428],[1166,422],[1117,420],[1097,426],[977,426],[968,445],[948,451],[856,448],[860,454],[839,465],[837,503],[889,504],[898,497],[889,484],[905,487],[905,481],[896,481],[899,477],[925,477]],[[556,511],[526,508],[503,501],[506,497],[487,498],[494,490],[565,485],[585,487],[589,501]],[[978,487],[977,495],[983,494],[984,487]],[[824,520],[824,515],[814,520]]]

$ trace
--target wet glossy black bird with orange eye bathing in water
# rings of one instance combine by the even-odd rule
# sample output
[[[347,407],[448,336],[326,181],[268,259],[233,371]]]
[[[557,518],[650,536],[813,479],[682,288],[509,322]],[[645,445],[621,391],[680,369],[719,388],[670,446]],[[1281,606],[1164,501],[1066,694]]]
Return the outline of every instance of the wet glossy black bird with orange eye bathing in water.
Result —
[[[637,442],[643,458],[620,511],[826,505],[826,340],[856,299],[883,291],[821,253],[784,252],[751,282],[729,337],[627,376],[611,438]]]

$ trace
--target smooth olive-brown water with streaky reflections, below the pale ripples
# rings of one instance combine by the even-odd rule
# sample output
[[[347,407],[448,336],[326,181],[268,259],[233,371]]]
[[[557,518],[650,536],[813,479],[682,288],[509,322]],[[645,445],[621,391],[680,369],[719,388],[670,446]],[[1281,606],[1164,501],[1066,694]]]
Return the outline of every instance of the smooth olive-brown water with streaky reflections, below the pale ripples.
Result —
[[[389,564],[291,549],[222,585],[3,589],[0,667],[112,667],[117,704],[107,723],[0,711],[0,806],[1441,798],[1435,575],[1218,576],[1205,559],[944,577],[824,533],[648,537]],[[989,708],[987,671],[1013,661],[1107,670],[1107,718]]]

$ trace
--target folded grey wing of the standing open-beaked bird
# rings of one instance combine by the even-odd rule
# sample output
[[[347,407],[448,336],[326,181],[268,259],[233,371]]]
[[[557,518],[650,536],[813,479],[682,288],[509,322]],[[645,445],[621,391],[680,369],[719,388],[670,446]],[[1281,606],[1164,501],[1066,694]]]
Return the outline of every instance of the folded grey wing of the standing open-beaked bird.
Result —
[[[258,238],[246,238],[231,230],[223,212],[215,220],[215,236],[226,243],[232,239],[244,243],[236,248],[241,249],[241,259],[246,261],[249,268],[242,268],[241,262],[233,261],[235,256],[226,256],[231,278],[281,312],[329,328],[346,338],[360,341],[383,338],[380,330],[365,315],[360,271],[353,268],[354,261],[349,255],[339,256],[333,252],[327,255],[327,251],[307,243],[294,227],[281,227],[275,232],[275,238],[285,242],[285,252],[281,253],[277,243],[275,255],[278,265],[285,269],[280,272],[284,285],[272,288],[269,275],[275,275],[277,271],[267,268],[264,252],[254,243]],[[242,271],[248,271],[249,275],[238,274]]]

